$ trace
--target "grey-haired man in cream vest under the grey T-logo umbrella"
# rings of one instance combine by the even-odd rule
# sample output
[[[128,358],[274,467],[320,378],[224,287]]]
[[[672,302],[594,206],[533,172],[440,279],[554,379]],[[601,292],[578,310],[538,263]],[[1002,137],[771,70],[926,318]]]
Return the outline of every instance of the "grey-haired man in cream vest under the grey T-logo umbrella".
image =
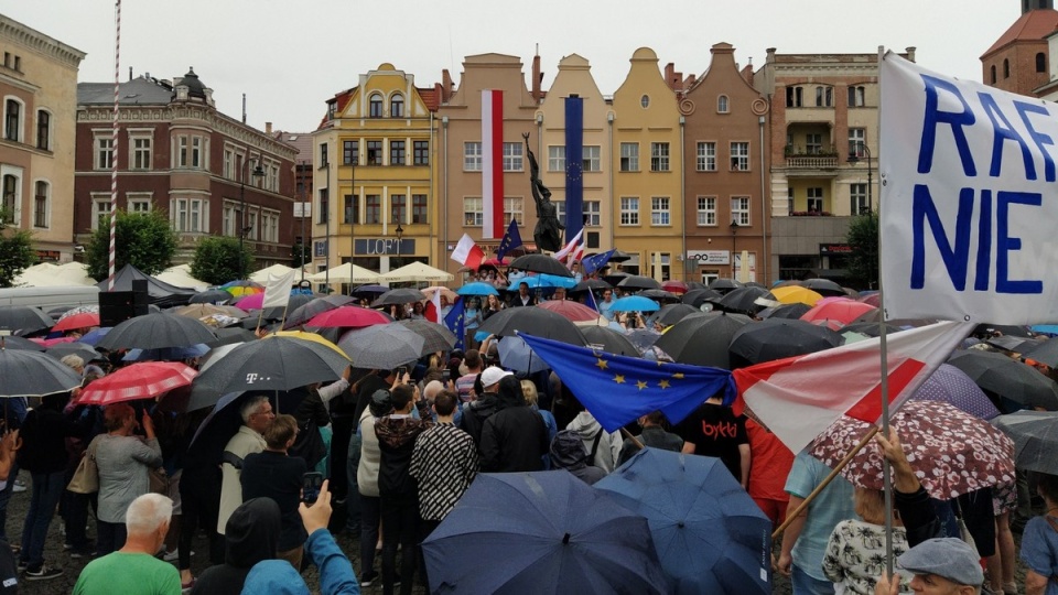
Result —
[[[224,534],[228,517],[242,504],[242,459],[246,455],[264,450],[264,429],[276,419],[268,397],[250,397],[239,408],[242,425],[231,436],[220,458],[220,513],[217,517],[217,532]]]

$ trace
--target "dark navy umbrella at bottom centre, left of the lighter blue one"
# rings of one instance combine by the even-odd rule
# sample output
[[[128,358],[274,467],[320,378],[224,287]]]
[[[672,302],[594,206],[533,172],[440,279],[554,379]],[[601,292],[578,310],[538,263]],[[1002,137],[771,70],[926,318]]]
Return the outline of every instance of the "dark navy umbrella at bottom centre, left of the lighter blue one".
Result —
[[[569,472],[478,474],[422,551],[431,593],[669,592],[647,520]]]

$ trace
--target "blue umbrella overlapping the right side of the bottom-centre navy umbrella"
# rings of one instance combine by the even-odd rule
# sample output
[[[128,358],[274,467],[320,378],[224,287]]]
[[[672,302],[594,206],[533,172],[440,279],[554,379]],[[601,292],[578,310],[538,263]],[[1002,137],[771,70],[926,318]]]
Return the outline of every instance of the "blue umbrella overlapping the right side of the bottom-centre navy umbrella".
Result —
[[[771,593],[771,521],[719,458],[644,448],[595,487],[646,517],[673,593]]]

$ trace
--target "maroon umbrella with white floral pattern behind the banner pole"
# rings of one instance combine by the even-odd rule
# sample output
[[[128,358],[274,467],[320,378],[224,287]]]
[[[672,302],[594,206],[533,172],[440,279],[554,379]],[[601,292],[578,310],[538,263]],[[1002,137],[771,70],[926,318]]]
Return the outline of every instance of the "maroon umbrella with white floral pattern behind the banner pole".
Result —
[[[915,475],[933,498],[948,500],[1014,483],[1014,442],[984,420],[948,403],[911,400],[890,424]],[[809,446],[811,454],[833,467],[871,428],[843,416]],[[882,489],[882,450],[870,441],[841,473],[853,485]]]

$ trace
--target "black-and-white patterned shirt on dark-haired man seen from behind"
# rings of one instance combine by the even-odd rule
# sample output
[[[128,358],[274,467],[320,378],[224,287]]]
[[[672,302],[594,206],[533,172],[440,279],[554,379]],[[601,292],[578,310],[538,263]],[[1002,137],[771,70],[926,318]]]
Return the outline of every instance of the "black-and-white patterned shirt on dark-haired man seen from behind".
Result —
[[[409,473],[419,482],[419,515],[443,520],[477,474],[474,439],[451,423],[439,423],[415,439]]]

